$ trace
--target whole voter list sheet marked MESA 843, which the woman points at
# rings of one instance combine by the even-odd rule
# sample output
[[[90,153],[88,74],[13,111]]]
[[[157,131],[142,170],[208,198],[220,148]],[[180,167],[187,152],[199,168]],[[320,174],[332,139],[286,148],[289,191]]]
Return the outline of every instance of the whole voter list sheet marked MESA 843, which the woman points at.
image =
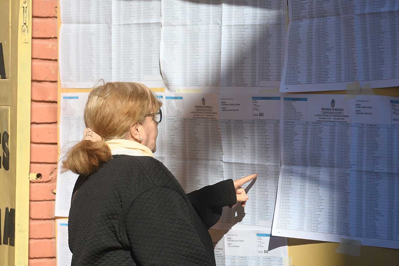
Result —
[[[225,208],[214,228],[271,226],[279,179],[279,95],[160,93],[155,157],[188,193],[258,173],[245,209]]]

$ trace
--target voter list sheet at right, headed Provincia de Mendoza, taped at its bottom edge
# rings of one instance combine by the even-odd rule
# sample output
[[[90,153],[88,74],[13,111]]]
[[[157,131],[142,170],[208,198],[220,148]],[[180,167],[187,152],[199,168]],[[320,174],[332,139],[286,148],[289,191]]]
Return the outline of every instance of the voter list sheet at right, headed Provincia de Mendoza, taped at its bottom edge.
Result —
[[[399,98],[284,95],[280,122],[273,236],[399,248]]]

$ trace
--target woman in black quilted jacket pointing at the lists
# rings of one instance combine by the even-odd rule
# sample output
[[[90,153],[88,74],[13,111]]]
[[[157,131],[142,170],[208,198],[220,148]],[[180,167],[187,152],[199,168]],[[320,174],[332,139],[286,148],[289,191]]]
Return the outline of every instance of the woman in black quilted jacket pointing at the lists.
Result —
[[[89,94],[83,140],[63,161],[79,174],[69,210],[72,265],[215,265],[208,229],[223,206],[242,206],[229,179],[186,194],[154,159],[161,103],[140,83],[109,82]]]

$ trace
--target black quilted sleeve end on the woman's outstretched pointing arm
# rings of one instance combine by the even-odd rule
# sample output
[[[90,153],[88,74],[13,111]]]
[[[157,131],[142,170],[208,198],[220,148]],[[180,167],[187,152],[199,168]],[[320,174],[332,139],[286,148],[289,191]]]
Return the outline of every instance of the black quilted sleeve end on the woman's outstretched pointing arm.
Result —
[[[222,208],[237,202],[233,179],[227,179],[187,194],[205,226],[209,229],[220,219]]]

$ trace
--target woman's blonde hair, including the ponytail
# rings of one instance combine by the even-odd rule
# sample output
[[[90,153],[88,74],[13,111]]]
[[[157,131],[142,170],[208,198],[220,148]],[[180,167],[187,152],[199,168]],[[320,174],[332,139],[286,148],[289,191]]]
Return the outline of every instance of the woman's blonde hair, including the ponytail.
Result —
[[[85,106],[85,125],[103,141],[77,143],[65,155],[62,171],[71,170],[79,175],[96,172],[112,156],[105,141],[126,138],[132,125],[143,123],[146,116],[158,112],[161,105],[154,93],[141,83],[107,82],[95,87]]]

